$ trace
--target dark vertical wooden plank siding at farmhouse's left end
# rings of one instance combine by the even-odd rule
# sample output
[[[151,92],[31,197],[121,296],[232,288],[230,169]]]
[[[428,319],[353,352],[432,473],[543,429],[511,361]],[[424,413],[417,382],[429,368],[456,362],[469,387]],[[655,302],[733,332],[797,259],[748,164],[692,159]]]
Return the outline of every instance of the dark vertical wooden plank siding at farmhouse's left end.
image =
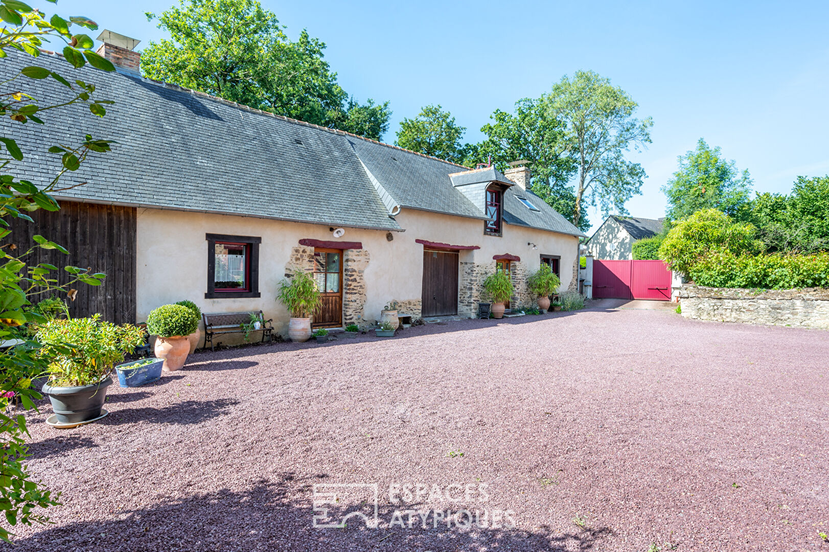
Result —
[[[54,264],[59,270],[53,274],[61,283],[70,279],[63,269],[66,265],[89,267],[107,275],[100,286],[74,286],[78,294],[75,301],[69,302],[70,316],[89,317],[100,312],[102,319],[109,322],[136,322],[135,207],[61,201],[61,211],[41,209],[29,215],[34,223],[9,220],[12,233],[4,243],[17,245],[17,251],[26,251],[35,243],[32,235],[39,234],[69,250],[67,255],[56,249],[35,249],[27,258],[29,264]],[[31,300],[36,303],[38,299]]]

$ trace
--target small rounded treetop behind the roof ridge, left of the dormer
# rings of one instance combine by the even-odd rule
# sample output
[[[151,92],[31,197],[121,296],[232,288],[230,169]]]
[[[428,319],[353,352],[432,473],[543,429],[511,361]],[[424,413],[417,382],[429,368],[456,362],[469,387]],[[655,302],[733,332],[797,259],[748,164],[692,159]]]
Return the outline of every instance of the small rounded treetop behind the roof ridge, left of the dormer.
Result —
[[[463,160],[461,143],[466,128],[458,126],[455,118],[440,105],[427,105],[414,119],[403,119],[397,131],[396,145],[424,155],[451,162]]]

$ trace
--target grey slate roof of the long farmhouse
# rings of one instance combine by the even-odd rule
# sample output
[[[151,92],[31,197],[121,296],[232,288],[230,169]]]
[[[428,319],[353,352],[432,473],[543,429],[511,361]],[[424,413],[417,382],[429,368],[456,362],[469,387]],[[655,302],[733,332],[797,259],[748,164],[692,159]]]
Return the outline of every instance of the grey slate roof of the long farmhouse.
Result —
[[[79,171],[67,172],[62,185],[87,184],[58,198],[378,230],[403,230],[389,215],[390,202],[485,218],[448,176],[466,167],[176,85],[89,65],[75,70],[57,55],[33,60],[10,51],[0,70],[8,78],[33,64],[93,83],[96,99],[115,102],[104,118],[75,104],[45,112],[46,125],[14,123],[27,165],[12,171],[41,186],[60,166],[59,155],[46,153],[48,146],[77,144],[86,133],[118,142],[113,152],[90,154]],[[69,98],[52,79],[27,79],[26,85],[36,96]],[[10,124],[0,121],[4,132]],[[529,212],[509,193],[509,224],[582,235],[539,198],[534,203],[541,211]]]

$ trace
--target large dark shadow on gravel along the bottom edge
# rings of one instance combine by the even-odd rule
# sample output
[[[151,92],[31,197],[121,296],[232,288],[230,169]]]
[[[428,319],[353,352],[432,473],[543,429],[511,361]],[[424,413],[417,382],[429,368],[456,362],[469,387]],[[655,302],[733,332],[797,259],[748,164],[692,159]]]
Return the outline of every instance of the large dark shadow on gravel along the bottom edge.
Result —
[[[312,481],[282,474],[278,482],[259,479],[245,491],[221,491],[186,498],[161,498],[135,510],[114,511],[90,521],[52,525],[31,537],[15,540],[20,552],[100,550],[594,550],[610,530],[581,530],[555,535],[544,528],[388,529],[392,510],[381,506],[381,526],[369,529],[350,521],[344,529],[313,527]],[[297,498],[297,496],[301,498]]]

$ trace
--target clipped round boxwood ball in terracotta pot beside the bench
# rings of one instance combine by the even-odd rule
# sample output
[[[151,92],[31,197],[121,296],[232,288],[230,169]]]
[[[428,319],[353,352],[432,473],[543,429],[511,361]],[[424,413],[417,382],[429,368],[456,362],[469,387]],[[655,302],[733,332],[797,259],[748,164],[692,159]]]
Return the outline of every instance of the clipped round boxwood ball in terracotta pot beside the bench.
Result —
[[[184,305],[163,305],[150,312],[147,331],[156,336],[155,355],[164,360],[162,370],[180,370],[190,353],[187,339],[199,326],[199,319]]]

